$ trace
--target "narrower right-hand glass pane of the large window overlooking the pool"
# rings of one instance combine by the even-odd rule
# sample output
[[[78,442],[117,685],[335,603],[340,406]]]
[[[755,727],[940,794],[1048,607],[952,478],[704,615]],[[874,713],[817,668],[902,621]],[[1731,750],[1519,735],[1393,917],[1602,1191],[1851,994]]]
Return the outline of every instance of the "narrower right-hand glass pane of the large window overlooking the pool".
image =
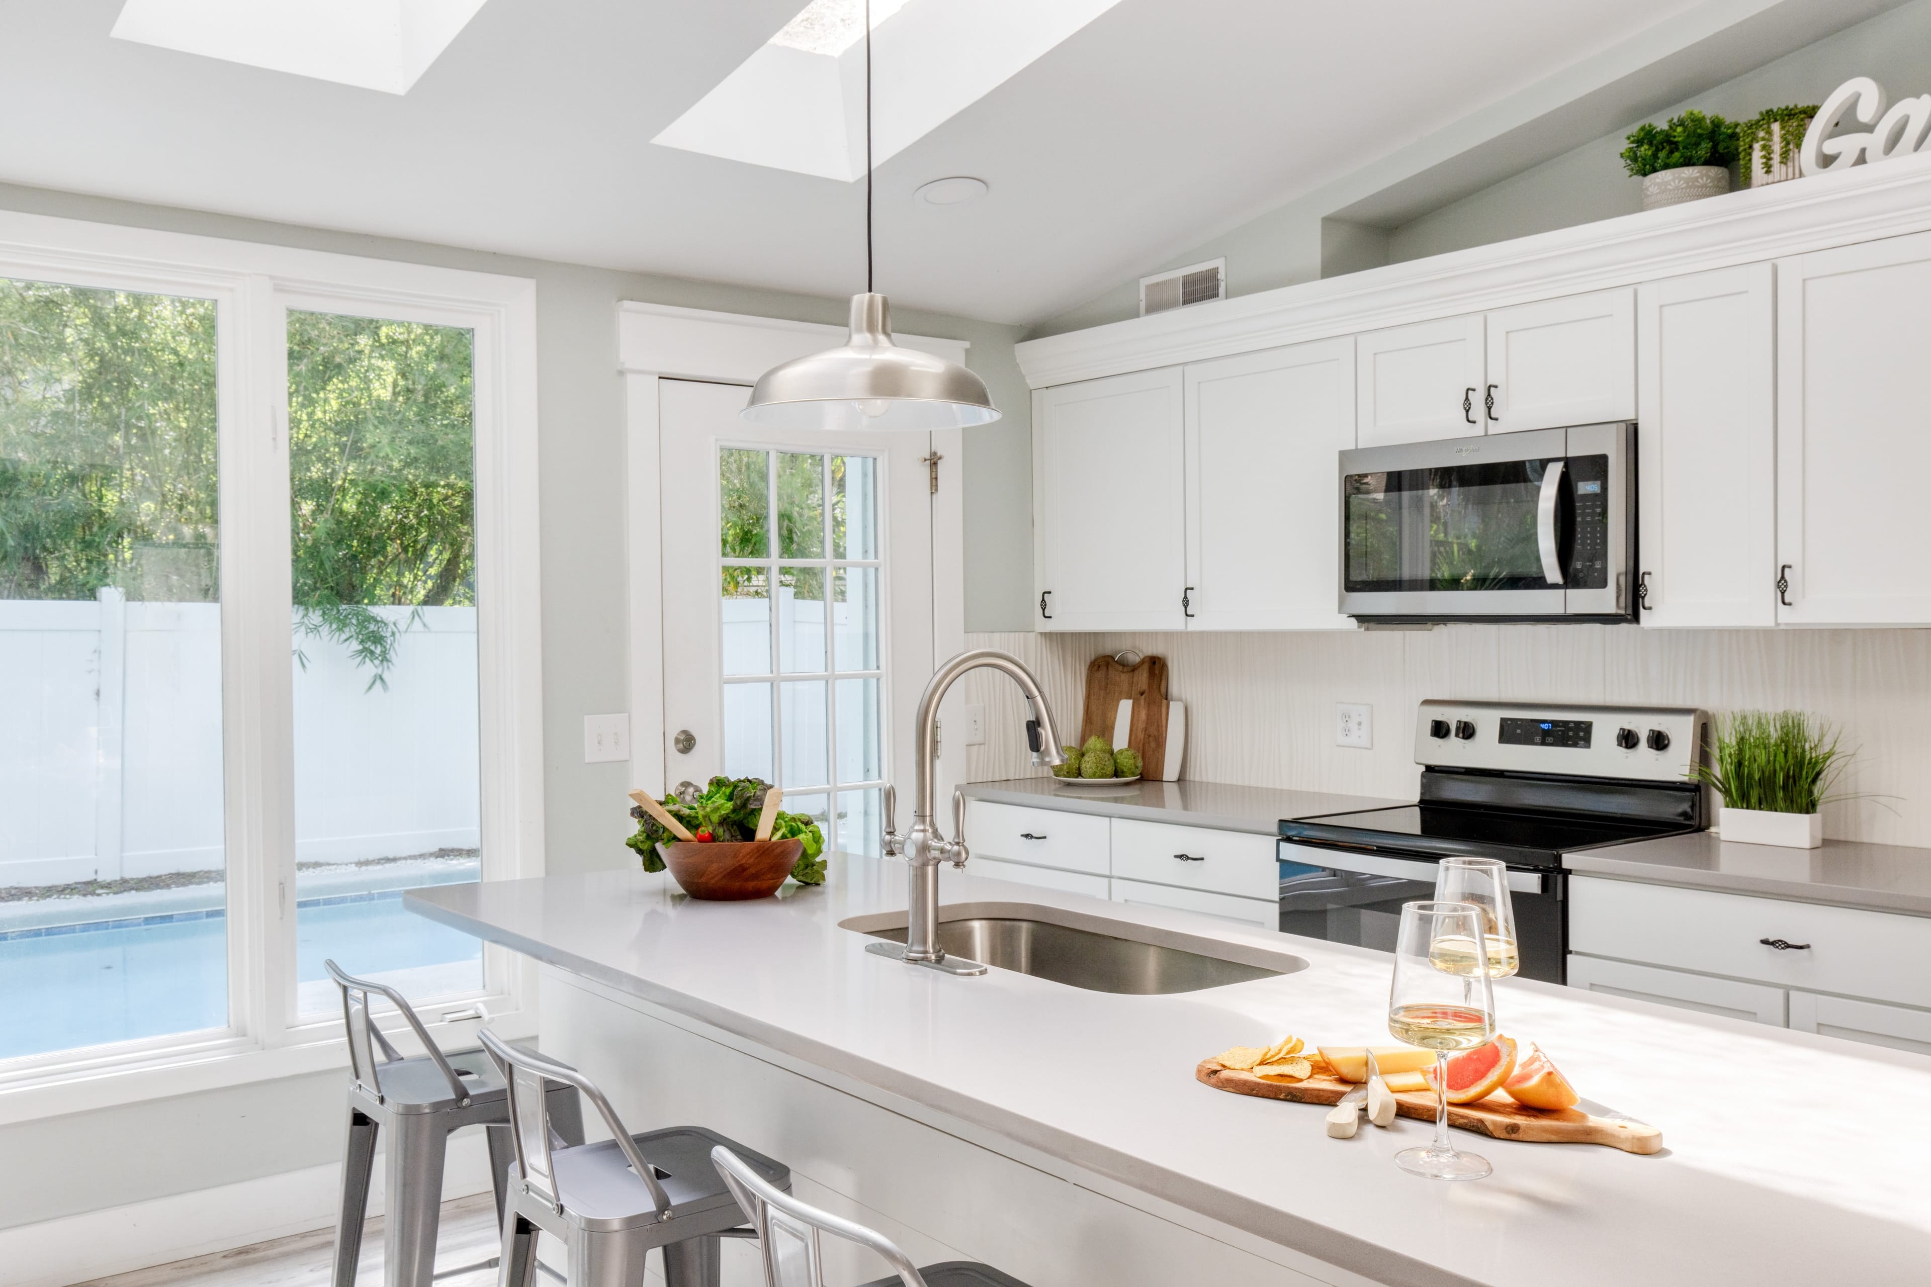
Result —
[[[479,940],[404,911],[481,878],[471,332],[288,315],[297,1013],[334,959],[411,1001]]]

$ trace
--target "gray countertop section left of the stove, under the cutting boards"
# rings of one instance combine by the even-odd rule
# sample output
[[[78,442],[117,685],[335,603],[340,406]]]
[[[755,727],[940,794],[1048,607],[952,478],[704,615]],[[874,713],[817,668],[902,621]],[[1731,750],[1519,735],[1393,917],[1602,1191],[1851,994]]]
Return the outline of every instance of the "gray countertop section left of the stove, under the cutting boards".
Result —
[[[1332,795],[1329,791],[1238,787],[1226,781],[1133,781],[1124,787],[1070,787],[1062,785],[1058,778],[1010,778],[1006,781],[971,781],[962,789],[967,799],[994,805],[1211,826],[1220,832],[1255,832],[1259,835],[1276,835],[1282,818],[1319,818],[1321,814],[1413,803],[1371,795]]]

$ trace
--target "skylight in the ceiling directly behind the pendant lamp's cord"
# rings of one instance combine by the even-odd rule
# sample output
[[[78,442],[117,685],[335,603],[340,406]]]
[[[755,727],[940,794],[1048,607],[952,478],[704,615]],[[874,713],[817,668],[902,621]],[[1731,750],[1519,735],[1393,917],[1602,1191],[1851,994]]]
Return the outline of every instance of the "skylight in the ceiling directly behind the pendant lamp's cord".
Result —
[[[1120,0],[873,0],[873,158],[884,164]],[[863,0],[811,0],[653,143],[865,174]]]

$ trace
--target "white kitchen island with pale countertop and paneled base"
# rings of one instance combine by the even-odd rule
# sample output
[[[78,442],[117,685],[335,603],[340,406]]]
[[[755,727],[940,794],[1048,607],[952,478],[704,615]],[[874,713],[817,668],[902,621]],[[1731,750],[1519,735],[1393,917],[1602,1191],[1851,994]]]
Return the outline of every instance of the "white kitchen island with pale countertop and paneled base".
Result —
[[[1539,1042],[1587,1100],[1661,1127],[1666,1150],[1456,1133],[1495,1175],[1433,1183],[1392,1162],[1425,1123],[1332,1140],[1321,1108],[1193,1079],[1199,1059],[1286,1032],[1386,1042],[1386,955],[944,868],[948,907],[1049,905],[1307,961],[1172,996],[956,978],[867,955],[873,940],[840,928],[902,911],[904,876],[834,857],[825,888],[757,903],[693,901],[631,870],[407,905],[548,967],[545,1048],[591,1073],[631,1131],[676,1119],[738,1136],[919,1262],[971,1256],[1033,1287],[1931,1275],[1931,1059],[1504,980],[1502,1030]],[[747,1268],[734,1260],[728,1281]]]

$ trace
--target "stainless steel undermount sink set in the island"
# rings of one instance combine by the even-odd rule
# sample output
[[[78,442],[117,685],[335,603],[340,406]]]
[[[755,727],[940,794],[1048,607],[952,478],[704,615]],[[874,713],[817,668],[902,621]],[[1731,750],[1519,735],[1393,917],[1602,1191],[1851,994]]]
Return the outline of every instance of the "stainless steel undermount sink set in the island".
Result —
[[[852,917],[840,924],[894,944],[906,942],[906,913]],[[1286,951],[1035,903],[940,907],[938,945],[946,955],[971,957],[994,969],[1133,996],[1201,992],[1307,969],[1307,961]]]

